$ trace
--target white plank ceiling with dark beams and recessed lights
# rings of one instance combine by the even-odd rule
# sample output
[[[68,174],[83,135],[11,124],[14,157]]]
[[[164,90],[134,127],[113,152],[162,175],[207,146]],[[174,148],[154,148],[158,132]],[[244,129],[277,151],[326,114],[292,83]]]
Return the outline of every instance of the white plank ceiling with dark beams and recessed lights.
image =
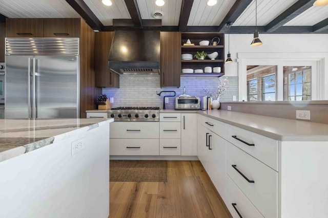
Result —
[[[253,33],[255,0],[0,0],[0,22],[5,18],[81,17],[96,31],[118,27],[158,28],[162,31]],[[262,33],[328,33],[328,5],[314,7],[315,0],[258,0],[257,26]],[[153,13],[162,12],[161,19]]]

